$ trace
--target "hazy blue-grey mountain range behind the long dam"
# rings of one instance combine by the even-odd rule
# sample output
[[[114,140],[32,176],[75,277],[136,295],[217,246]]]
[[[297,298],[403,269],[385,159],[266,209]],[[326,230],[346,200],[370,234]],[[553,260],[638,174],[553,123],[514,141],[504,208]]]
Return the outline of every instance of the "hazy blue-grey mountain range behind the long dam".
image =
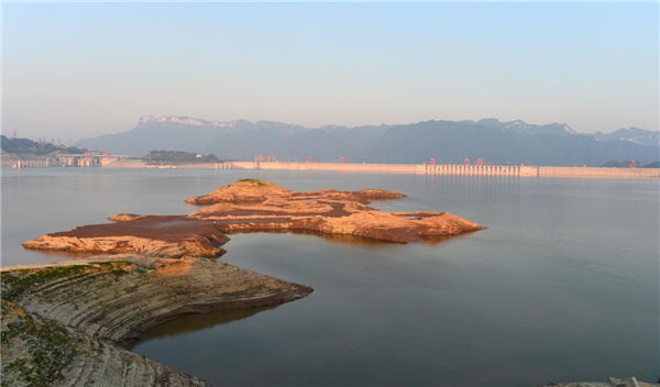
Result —
[[[524,121],[424,121],[413,124],[306,128],[273,121],[220,122],[190,117],[151,117],[123,133],[85,139],[78,146],[131,156],[153,150],[215,154],[251,161],[462,163],[483,158],[498,165],[587,165],[609,161],[660,159],[660,132],[637,128],[612,133],[576,133],[563,123]]]

